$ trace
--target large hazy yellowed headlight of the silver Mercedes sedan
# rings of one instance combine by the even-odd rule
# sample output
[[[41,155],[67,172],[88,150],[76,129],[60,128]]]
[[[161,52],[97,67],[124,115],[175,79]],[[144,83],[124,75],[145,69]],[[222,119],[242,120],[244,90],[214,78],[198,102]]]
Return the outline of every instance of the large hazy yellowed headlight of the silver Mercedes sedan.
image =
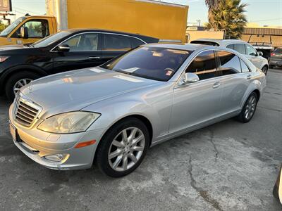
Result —
[[[75,111],[54,115],[44,120],[38,129],[56,134],[70,134],[84,132],[99,118],[99,113]]]

